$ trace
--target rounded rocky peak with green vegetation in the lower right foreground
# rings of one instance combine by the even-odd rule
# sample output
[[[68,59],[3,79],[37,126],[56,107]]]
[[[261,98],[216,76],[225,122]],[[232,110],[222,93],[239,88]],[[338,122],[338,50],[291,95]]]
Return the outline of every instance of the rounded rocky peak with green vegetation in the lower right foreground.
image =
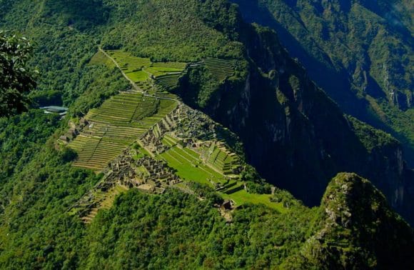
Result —
[[[368,180],[341,173],[323,196],[320,222],[300,255],[303,269],[410,269],[414,234]],[[299,261],[299,263],[298,263]]]

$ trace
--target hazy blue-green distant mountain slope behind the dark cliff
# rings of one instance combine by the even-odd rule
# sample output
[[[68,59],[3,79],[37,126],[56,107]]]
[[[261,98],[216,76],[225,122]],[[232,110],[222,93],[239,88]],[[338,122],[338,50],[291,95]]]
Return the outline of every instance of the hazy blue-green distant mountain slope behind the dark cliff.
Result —
[[[281,43],[348,114],[393,133],[414,164],[410,1],[234,1]]]

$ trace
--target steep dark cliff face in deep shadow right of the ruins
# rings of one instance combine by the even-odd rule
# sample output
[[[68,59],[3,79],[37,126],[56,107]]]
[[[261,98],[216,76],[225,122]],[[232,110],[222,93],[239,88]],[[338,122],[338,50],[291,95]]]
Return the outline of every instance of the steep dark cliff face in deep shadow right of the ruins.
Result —
[[[410,179],[398,141],[343,116],[273,31],[248,29],[248,73],[238,84],[224,82],[205,111],[241,136],[263,177],[306,204],[318,204],[339,171],[355,171],[401,207]]]

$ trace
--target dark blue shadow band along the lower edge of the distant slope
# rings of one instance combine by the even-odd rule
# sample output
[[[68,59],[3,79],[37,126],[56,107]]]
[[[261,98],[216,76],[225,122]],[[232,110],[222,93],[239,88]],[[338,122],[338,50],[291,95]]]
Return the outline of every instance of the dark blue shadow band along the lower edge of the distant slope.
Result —
[[[402,134],[398,134],[395,130],[391,129],[390,126],[381,121],[378,116],[372,114],[369,110],[370,104],[368,101],[362,98],[358,98],[356,93],[351,90],[351,84],[348,79],[348,73],[346,71],[335,70],[333,64],[330,61],[328,55],[326,55],[323,50],[319,50],[320,55],[323,57],[321,62],[316,59],[314,56],[310,55],[308,51],[301,45],[301,43],[296,40],[296,38],[289,33],[271,14],[265,6],[258,4],[257,0],[248,1],[248,0],[232,0],[234,3],[238,4],[241,9],[241,14],[243,19],[247,22],[253,23],[256,22],[263,26],[268,26],[269,28],[275,30],[278,34],[279,41],[281,44],[288,48],[289,54],[293,58],[298,58],[301,60],[301,64],[306,67],[307,72],[318,86],[320,86],[330,98],[338,103],[340,109],[342,109],[345,114],[350,114],[365,121],[366,123],[375,126],[378,129],[386,131],[396,138],[400,139],[404,144],[404,155],[405,159],[408,161],[410,166],[414,166],[414,148],[407,144],[408,139]],[[288,6],[296,6],[296,1],[286,1]],[[349,3],[343,3],[344,9],[349,9]],[[374,7],[371,7],[374,9]],[[378,8],[375,8],[378,11]],[[378,11],[379,12],[379,11]],[[382,15],[383,12],[381,13]],[[316,45],[315,42],[313,42]],[[387,99],[385,93],[380,89],[380,86],[376,81],[368,74],[368,93],[370,96],[373,96],[375,99]]]

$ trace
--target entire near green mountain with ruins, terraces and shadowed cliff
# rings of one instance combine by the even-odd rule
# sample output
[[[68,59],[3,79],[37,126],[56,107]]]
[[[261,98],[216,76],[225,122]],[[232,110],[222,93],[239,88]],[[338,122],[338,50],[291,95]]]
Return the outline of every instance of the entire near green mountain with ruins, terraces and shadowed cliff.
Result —
[[[0,29],[40,72],[0,119],[1,268],[413,265],[400,142],[235,4],[0,0]]]

